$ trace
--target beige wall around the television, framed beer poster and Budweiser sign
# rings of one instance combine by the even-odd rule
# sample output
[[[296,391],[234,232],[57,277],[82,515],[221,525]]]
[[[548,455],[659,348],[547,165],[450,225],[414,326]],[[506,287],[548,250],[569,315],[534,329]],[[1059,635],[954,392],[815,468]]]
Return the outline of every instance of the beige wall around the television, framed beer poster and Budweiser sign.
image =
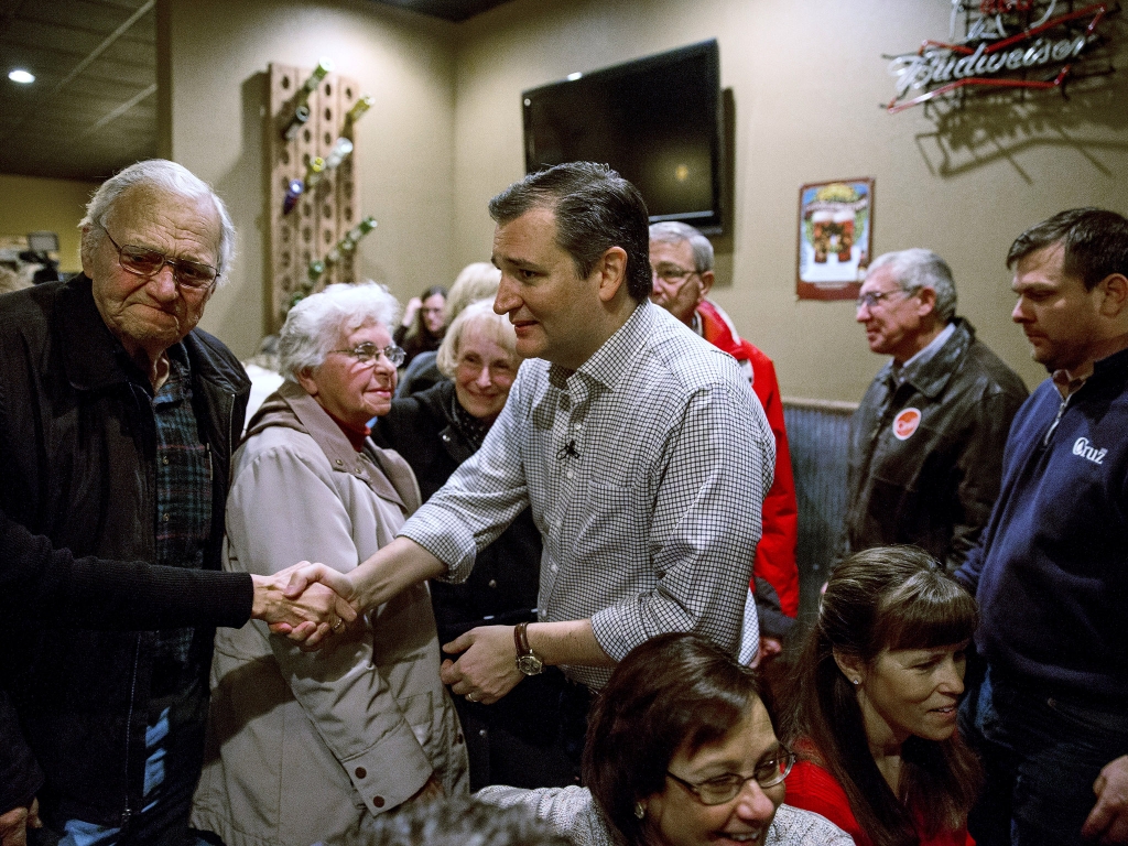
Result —
[[[1003,258],[1061,209],[1128,211],[1128,73],[1064,102],[1013,95],[952,112],[888,115],[882,54],[946,38],[944,0],[515,0],[459,30],[457,257],[490,248],[490,196],[522,175],[520,91],[717,38],[735,102],[735,220],[716,241],[715,299],[776,360],[787,396],[856,400],[882,361],[853,305],[795,300],[796,205],[807,182],[873,176],[875,253],[928,247],[952,265],[960,311],[1028,381],[1043,371],[1010,321]],[[1117,25],[1128,65],[1128,33]],[[946,109],[945,109],[946,111]]]

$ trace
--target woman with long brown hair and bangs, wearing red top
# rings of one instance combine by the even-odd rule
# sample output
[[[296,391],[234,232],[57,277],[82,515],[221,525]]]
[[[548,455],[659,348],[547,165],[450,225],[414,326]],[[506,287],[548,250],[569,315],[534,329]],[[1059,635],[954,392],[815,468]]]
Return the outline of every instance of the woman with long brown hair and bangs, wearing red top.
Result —
[[[975,599],[927,553],[876,547],[838,565],[793,679],[787,800],[857,846],[964,846],[980,784],[955,733]]]

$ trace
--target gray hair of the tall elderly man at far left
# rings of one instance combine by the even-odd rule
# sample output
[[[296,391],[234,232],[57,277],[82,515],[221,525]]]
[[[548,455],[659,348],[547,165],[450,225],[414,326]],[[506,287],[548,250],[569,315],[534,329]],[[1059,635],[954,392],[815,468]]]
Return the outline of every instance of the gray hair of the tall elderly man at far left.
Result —
[[[211,200],[219,215],[219,271],[220,283],[228,277],[235,261],[235,224],[227,206],[211,185],[183,165],[168,159],[148,159],[130,165],[116,176],[112,176],[94,192],[86,206],[86,217],[79,221],[82,230],[82,249],[94,249],[105,238],[103,221],[123,194],[132,188],[147,187],[190,200]]]

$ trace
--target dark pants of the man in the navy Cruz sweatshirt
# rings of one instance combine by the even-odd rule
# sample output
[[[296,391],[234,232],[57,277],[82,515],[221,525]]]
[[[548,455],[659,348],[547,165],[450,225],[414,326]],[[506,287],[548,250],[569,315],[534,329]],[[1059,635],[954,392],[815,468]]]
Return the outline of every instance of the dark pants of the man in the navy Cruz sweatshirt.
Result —
[[[988,669],[960,707],[986,782],[968,818],[979,846],[1081,844],[1093,782],[1128,754],[1128,713],[1048,696]]]

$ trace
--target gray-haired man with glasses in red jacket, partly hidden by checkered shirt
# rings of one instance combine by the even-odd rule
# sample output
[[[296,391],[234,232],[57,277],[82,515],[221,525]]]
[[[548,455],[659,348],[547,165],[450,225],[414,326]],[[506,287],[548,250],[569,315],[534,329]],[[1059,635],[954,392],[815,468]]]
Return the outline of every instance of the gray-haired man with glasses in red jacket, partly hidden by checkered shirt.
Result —
[[[772,359],[744,341],[720,307],[710,302],[713,288],[713,245],[687,223],[663,221],[650,228],[650,266],[654,289],[650,299],[737,360],[764,406],[776,442],[775,478],[764,497],[764,532],[756,545],[752,584],[759,622],[759,643],[747,644],[741,658],[755,666],[783,652],[783,638],[799,614],[799,508],[787,449],[783,402]]]

